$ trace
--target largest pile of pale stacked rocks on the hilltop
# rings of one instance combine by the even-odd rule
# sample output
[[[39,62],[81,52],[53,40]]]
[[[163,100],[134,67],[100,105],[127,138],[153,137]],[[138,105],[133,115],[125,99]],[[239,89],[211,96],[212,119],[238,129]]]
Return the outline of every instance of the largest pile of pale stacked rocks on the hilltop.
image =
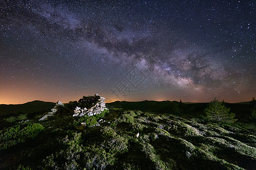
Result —
[[[98,94],[94,96],[84,96],[79,100],[79,103],[82,103],[82,106],[88,105],[89,108],[86,107],[76,107],[74,110],[73,117],[76,116],[93,116],[95,114],[100,114],[104,109],[106,109],[105,98],[99,96]],[[87,102],[87,103],[86,103]]]

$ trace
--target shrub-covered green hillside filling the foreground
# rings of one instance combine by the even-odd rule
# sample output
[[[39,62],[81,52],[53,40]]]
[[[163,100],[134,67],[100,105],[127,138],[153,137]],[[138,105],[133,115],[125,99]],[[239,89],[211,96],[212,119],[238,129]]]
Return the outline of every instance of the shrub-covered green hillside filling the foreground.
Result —
[[[217,124],[182,114],[119,108],[97,117],[73,118],[69,111],[47,121],[38,121],[40,117],[1,120],[0,169],[256,167],[254,122]]]

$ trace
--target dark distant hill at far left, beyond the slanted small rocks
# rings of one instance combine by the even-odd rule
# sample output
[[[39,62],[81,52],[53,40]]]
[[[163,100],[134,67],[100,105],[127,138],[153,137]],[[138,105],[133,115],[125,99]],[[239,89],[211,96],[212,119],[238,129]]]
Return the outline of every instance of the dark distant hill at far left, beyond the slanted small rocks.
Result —
[[[30,101],[24,104],[0,104],[0,116],[5,116],[6,114],[49,111],[54,106],[55,103],[53,102],[40,100]]]

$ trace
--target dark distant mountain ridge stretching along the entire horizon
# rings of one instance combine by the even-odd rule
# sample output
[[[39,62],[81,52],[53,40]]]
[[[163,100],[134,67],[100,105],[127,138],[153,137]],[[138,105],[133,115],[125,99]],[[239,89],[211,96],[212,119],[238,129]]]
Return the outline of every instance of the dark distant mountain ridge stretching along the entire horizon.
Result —
[[[237,118],[247,119],[250,116],[250,101],[241,103],[224,103]],[[55,106],[53,102],[30,101],[24,104],[0,104],[0,116],[18,113],[47,112]],[[180,103],[179,101],[114,101],[106,103],[107,107],[139,110],[158,113],[202,114],[208,103]]]

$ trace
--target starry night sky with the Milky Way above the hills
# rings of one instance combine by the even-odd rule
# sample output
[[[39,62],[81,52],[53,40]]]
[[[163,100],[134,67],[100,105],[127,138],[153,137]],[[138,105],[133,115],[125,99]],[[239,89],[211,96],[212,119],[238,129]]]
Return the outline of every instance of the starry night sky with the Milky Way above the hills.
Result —
[[[254,2],[0,0],[0,104],[249,101]]]

